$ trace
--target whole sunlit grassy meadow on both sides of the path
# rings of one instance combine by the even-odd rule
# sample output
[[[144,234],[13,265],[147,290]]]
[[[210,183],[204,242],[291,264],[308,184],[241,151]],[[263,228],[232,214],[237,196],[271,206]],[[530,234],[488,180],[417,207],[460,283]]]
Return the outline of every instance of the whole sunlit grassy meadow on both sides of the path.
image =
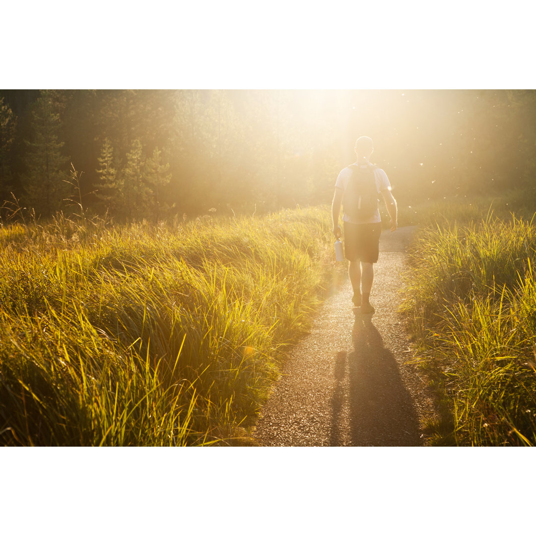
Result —
[[[534,206],[526,191],[399,204],[420,226],[401,311],[441,413],[431,445],[536,444]],[[3,225],[0,444],[250,444],[337,279],[330,230],[325,206]]]

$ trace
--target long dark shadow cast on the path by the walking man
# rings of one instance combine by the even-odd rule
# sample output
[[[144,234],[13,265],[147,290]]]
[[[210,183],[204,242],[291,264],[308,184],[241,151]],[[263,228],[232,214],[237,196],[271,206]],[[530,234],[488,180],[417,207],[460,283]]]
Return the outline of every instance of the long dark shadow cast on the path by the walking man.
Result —
[[[349,405],[346,444],[349,440],[354,446],[422,445],[419,419],[398,362],[385,348],[371,316],[356,317],[352,338],[353,351],[339,352],[336,358],[330,444],[343,444],[337,423]]]

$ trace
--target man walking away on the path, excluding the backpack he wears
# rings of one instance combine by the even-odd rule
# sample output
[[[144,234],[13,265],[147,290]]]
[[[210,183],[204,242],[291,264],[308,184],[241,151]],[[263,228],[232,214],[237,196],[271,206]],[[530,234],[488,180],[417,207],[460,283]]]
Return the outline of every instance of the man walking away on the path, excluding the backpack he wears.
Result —
[[[355,153],[357,160],[354,166],[362,169],[369,167],[374,170],[374,182],[377,193],[381,193],[389,216],[391,218],[391,231],[397,228],[397,204],[391,194],[391,184],[383,169],[374,167],[370,163],[370,156],[374,150],[373,141],[368,136],[361,136],[355,142]],[[335,195],[331,205],[331,216],[333,219],[333,234],[336,238],[341,235],[339,227],[340,205],[344,199],[348,181],[352,177],[354,170],[350,167],[344,168],[337,177],[335,185]],[[346,208],[346,205],[345,205]],[[378,262],[379,235],[382,232],[381,218],[379,210],[371,217],[359,218],[343,215],[344,224],[344,249],[345,257],[349,260],[348,275],[354,291],[352,301],[354,306],[360,307],[363,314],[374,313],[374,307],[369,302],[370,289],[374,281],[374,263]]]

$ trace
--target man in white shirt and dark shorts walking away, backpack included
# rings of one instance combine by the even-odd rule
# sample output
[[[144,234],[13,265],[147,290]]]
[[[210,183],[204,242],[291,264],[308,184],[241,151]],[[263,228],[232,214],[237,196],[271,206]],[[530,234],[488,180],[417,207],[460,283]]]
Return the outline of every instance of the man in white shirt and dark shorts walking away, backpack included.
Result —
[[[374,312],[369,296],[374,281],[374,263],[378,262],[379,235],[382,232],[378,193],[381,193],[389,212],[391,231],[397,228],[397,204],[391,194],[391,184],[384,170],[370,163],[373,150],[373,140],[368,136],[361,136],[356,140],[357,160],[355,164],[339,173],[331,205],[333,234],[339,238],[340,205],[344,200],[344,249],[345,257],[350,262],[348,275],[354,291],[352,301],[355,307],[360,307],[359,312],[363,314]],[[371,197],[375,198],[368,212],[364,210],[364,205],[367,203],[363,193],[365,188],[363,184],[366,184],[367,176],[370,177],[373,189]]]

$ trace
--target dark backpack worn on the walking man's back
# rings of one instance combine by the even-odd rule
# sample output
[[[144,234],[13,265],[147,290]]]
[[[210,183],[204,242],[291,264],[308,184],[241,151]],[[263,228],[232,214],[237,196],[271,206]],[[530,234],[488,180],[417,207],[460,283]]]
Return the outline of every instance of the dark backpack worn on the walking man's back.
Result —
[[[366,220],[378,210],[378,190],[374,180],[374,170],[378,166],[361,168],[356,164],[348,166],[352,175],[344,192],[344,213],[352,219]]]

